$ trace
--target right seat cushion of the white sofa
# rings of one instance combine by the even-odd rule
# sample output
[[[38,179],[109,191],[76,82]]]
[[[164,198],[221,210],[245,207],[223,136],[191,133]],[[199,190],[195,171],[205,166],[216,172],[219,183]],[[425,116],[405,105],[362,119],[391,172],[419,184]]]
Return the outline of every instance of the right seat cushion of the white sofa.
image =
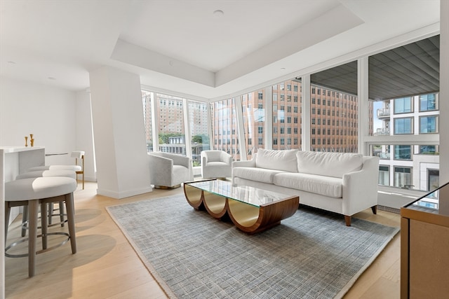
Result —
[[[328,197],[341,198],[343,194],[343,179],[332,176],[283,172],[274,176],[274,184]]]

